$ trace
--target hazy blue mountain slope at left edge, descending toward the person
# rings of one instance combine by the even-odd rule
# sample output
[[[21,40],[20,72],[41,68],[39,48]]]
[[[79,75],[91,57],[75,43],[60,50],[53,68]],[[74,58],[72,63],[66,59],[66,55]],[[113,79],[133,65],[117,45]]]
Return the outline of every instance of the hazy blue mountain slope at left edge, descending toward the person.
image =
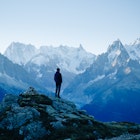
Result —
[[[0,54],[0,88],[1,93],[20,93],[29,86],[36,87],[40,91],[47,91],[37,84],[33,77],[23,67],[14,64],[8,58]]]

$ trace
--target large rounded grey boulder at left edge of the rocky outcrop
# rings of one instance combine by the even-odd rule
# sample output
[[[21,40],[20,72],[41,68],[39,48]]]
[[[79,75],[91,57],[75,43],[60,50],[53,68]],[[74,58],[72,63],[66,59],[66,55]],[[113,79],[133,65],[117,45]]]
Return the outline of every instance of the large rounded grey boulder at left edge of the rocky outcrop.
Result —
[[[22,108],[19,106],[11,106],[11,110],[6,112],[6,117],[0,123],[0,128],[12,130],[20,126],[32,122],[35,118],[39,118],[40,113],[30,107]]]

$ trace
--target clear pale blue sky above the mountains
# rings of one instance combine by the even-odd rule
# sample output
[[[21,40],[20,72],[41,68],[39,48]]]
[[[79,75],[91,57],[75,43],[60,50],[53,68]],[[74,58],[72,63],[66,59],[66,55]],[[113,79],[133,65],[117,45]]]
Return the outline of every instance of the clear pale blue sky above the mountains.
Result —
[[[140,38],[140,0],[0,0],[0,52],[12,42],[66,45],[96,55]]]

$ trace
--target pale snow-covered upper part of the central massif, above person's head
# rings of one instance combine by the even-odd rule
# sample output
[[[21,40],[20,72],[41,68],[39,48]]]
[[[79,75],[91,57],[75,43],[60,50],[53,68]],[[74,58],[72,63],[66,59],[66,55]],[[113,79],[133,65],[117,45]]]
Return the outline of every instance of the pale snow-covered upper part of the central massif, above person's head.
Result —
[[[32,63],[39,67],[57,66],[75,74],[83,72],[95,60],[95,55],[86,52],[82,45],[79,48],[60,45],[58,47],[41,46],[36,49],[30,44],[13,42],[4,55],[19,65],[25,66]]]

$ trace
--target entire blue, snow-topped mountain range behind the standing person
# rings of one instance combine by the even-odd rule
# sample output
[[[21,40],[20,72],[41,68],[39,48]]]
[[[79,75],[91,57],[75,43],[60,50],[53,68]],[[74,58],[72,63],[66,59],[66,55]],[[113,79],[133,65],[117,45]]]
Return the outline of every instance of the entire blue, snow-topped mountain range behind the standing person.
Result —
[[[82,45],[36,49],[33,45],[13,42],[1,57],[16,67],[5,62],[10,72],[23,76],[7,73],[6,76],[14,80],[10,83],[17,83],[8,84],[9,79],[1,82],[4,92],[9,87],[23,90],[29,85],[46,93],[53,92],[53,75],[60,67],[64,79],[63,98],[75,102],[101,121],[140,122],[140,39],[129,45],[116,40],[107,52],[98,56],[86,52]],[[17,67],[22,70],[18,71]],[[1,70],[0,73],[1,77],[5,74]]]

